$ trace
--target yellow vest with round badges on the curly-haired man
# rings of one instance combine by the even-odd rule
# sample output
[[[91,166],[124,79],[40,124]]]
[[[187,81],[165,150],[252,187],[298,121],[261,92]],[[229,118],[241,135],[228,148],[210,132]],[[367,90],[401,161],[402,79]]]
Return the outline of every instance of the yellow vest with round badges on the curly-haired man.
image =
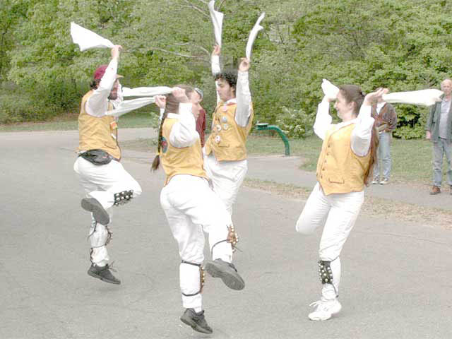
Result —
[[[218,161],[237,161],[246,159],[246,136],[251,130],[254,117],[251,115],[245,127],[237,125],[235,111],[237,104],[225,105],[219,102],[213,113],[212,132],[206,141],[206,154],[213,152]]]

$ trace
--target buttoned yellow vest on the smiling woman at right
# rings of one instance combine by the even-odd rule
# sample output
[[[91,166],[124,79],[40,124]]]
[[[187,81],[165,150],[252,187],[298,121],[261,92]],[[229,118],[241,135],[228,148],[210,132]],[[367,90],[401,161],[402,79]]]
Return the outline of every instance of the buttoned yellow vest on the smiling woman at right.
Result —
[[[323,193],[350,193],[364,189],[364,174],[369,168],[370,152],[359,157],[352,151],[350,139],[355,124],[326,133],[317,162],[317,181]]]

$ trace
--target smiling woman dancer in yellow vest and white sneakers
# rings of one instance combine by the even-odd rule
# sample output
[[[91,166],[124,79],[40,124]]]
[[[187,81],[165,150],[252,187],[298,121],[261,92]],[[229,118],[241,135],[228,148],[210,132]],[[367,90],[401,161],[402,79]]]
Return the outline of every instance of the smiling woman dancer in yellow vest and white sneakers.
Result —
[[[337,314],[340,282],[340,251],[355,225],[364,202],[364,184],[371,178],[376,161],[378,135],[371,117],[371,104],[387,90],[364,97],[356,85],[343,85],[337,97],[324,97],[319,104],[314,131],[323,139],[317,163],[317,184],[311,192],[296,230],[311,234],[323,225],[319,248],[319,275],[323,284],[321,299],[309,319],[323,321]],[[331,124],[330,102],[342,120]]]

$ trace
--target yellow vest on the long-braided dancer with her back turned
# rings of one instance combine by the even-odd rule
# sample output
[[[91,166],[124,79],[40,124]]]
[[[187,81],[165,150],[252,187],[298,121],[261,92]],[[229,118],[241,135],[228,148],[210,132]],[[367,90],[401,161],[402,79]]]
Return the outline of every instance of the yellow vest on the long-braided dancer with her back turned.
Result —
[[[169,143],[169,133],[177,121],[178,119],[172,118],[163,121],[160,161],[167,176],[165,185],[177,174],[190,174],[208,179],[203,167],[203,154],[199,139],[193,145],[184,148],[177,148]]]

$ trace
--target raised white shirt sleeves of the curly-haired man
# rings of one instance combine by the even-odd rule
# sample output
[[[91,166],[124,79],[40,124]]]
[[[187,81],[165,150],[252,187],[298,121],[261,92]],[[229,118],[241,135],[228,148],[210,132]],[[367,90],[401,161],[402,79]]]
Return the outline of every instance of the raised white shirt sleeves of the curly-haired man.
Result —
[[[220,56],[212,56],[212,74],[221,73]],[[215,84],[217,82],[215,81]],[[235,112],[235,122],[239,126],[245,127],[248,124],[251,116],[251,92],[249,90],[249,75],[248,72],[239,71],[237,74],[237,86],[235,89],[236,97],[227,100],[225,104],[237,103],[237,110]],[[220,102],[220,97],[217,92],[217,104]]]

